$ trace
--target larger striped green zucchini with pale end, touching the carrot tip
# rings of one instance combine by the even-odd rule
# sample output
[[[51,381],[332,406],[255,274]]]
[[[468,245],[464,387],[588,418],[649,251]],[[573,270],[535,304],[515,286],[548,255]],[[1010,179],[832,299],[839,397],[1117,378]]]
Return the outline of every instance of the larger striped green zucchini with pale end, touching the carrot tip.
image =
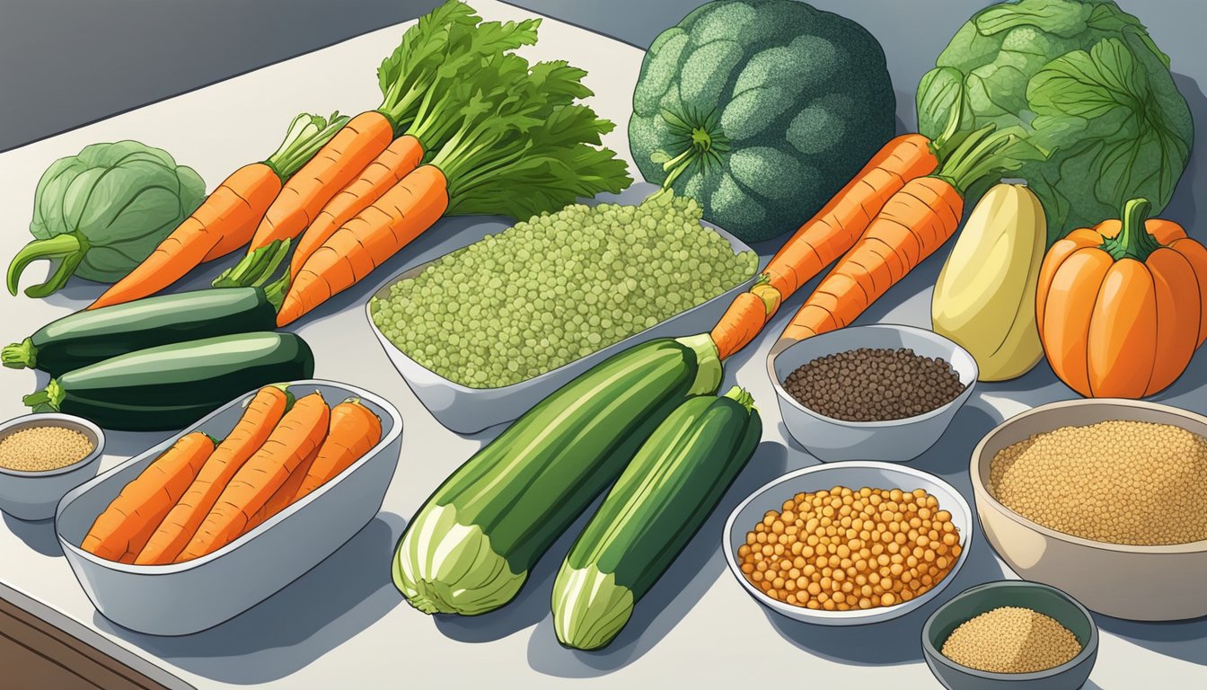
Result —
[[[395,585],[427,614],[506,604],[663,417],[719,383],[707,335],[649,341],[588,370],[436,489],[398,540]]]

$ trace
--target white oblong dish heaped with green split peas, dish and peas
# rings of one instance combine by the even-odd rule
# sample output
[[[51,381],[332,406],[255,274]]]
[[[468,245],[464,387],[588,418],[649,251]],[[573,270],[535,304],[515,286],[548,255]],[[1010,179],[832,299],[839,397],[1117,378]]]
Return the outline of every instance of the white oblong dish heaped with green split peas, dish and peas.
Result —
[[[385,282],[374,336],[441,424],[461,434],[515,419],[635,344],[709,331],[753,284],[758,255],[684,197],[536,216]]]

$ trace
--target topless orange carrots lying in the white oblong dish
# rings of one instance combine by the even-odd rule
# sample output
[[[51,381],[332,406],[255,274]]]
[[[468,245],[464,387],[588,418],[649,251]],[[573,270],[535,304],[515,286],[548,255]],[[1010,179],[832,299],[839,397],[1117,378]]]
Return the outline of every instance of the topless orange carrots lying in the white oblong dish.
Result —
[[[260,389],[225,440],[180,437],[109,504],[82,547],[139,566],[217,551],[337,477],[381,440],[381,421],[356,399],[328,407]]]

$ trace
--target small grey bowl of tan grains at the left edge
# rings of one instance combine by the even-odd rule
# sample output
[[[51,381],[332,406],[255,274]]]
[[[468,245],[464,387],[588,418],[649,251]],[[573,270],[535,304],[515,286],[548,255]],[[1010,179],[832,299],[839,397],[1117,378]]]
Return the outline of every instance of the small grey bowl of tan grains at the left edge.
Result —
[[[57,412],[0,424],[0,510],[48,520],[65,493],[100,466],[105,435],[92,422]]]

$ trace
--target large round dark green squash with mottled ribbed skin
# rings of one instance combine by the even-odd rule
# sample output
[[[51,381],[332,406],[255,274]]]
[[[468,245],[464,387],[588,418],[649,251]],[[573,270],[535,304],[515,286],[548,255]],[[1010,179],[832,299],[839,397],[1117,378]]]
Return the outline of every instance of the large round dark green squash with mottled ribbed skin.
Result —
[[[718,0],[649,47],[629,143],[646,180],[760,242],[800,227],[894,129],[867,29],[795,0]]]

